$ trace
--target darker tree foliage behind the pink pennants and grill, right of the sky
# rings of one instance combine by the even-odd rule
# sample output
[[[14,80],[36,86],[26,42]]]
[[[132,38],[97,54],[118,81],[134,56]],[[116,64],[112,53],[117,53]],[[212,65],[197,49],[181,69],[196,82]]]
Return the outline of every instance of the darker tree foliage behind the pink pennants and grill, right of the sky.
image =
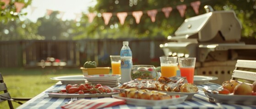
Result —
[[[80,30],[83,34],[77,34],[76,40],[80,38],[156,38],[167,37],[174,34],[186,18],[196,16],[190,3],[196,0],[97,0],[95,7],[90,8],[90,12],[98,13],[93,23],[88,23],[87,16],[82,17]],[[185,16],[182,18],[175,7],[177,5],[187,5]],[[242,37],[256,37],[256,5],[253,0],[201,0],[199,15],[206,13],[205,5],[211,5],[214,10],[234,10],[242,23]],[[163,12],[158,11],[156,21],[152,22],[145,11],[162,9],[163,7],[173,7],[169,18],[165,18]],[[143,15],[139,24],[131,15],[132,11],[143,10]],[[109,24],[105,25],[101,14],[111,12]],[[125,24],[120,25],[116,16],[117,12],[128,12]],[[81,32],[81,31],[80,31]]]

